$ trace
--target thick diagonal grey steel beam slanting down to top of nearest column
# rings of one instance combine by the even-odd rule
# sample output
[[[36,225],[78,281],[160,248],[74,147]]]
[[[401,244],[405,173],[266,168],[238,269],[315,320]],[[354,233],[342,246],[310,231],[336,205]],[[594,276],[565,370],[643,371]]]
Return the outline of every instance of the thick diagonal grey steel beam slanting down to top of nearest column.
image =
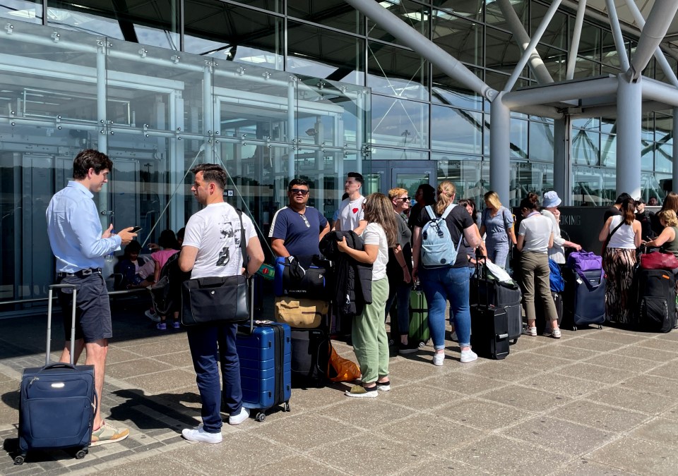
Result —
[[[374,21],[381,28],[398,38],[406,47],[411,48],[417,54],[437,66],[443,73],[453,80],[458,81],[470,90],[481,94],[492,101],[496,97],[496,91],[485,84],[473,74],[466,66],[460,63],[454,56],[439,47],[410,25],[400,20],[386,8],[374,0],[345,0],[347,4],[364,13],[367,18]]]

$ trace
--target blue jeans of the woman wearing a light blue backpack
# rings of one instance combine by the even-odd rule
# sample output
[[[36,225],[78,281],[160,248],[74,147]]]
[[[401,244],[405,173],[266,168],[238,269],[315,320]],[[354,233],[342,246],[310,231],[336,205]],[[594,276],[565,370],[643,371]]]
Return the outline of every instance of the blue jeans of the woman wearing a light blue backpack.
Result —
[[[445,348],[445,307],[450,301],[454,329],[460,347],[470,346],[471,315],[468,306],[468,267],[434,268],[419,272],[422,288],[429,305],[429,329],[436,350]]]

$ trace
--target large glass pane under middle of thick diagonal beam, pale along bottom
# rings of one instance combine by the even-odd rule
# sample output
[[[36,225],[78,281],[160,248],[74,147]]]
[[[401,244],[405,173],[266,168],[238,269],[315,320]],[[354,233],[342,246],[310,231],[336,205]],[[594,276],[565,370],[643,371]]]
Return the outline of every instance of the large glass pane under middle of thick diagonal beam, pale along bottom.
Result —
[[[367,85],[372,92],[428,99],[428,62],[422,56],[386,44],[367,45]]]

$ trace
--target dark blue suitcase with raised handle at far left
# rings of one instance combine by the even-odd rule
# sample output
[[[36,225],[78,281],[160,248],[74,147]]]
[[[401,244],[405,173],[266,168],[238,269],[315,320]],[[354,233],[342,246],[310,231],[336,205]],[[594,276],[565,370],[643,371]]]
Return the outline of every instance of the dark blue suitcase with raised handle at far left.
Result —
[[[52,338],[52,295],[54,289],[73,289],[71,324],[71,363],[49,362]],[[47,356],[44,367],[23,371],[19,402],[19,454],[14,464],[20,465],[26,453],[33,450],[72,449],[76,458],[84,458],[92,439],[92,426],[97,408],[93,365],[73,365],[76,334],[77,286],[49,286],[47,303]]]

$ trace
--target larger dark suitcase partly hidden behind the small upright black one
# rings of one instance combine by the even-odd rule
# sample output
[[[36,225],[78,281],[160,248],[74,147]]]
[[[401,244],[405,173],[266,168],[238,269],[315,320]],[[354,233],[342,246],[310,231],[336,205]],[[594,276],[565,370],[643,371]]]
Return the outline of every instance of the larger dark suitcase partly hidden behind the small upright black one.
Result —
[[[478,268],[478,267],[477,267]],[[478,274],[478,273],[481,274]],[[484,276],[483,276],[484,275]],[[504,283],[489,279],[487,267],[480,266],[471,277],[470,289],[477,288],[469,294],[470,304],[480,300],[482,305],[493,305],[506,310],[508,319],[509,342],[516,343],[523,334],[523,309],[521,307],[521,288],[516,283]]]

